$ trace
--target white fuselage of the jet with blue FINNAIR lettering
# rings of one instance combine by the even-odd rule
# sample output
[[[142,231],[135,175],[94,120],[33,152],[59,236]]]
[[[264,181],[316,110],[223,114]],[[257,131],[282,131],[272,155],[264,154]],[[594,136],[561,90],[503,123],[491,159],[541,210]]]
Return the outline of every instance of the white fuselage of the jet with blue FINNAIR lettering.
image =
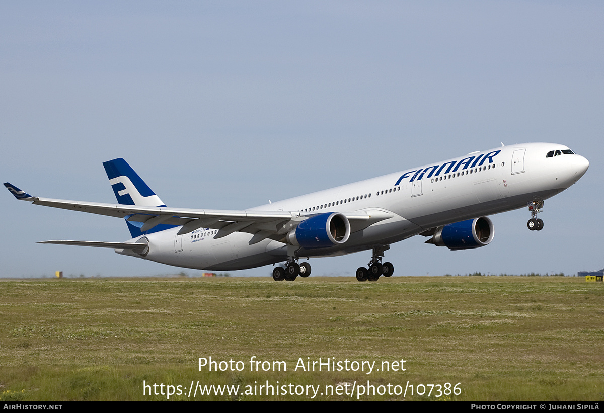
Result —
[[[500,147],[391,173],[341,187],[250,208],[292,211],[300,216],[327,212],[387,216],[366,228],[353,228],[343,245],[300,249],[298,257],[327,257],[363,251],[407,239],[431,228],[525,207],[567,189],[583,176],[583,156],[548,152],[559,144],[530,143]],[[147,260],[194,269],[230,271],[277,263],[288,257],[285,243],[234,232],[214,239],[216,229],[177,235],[180,227],[144,235]],[[137,239],[135,239],[137,240]],[[120,254],[132,251],[116,249]]]

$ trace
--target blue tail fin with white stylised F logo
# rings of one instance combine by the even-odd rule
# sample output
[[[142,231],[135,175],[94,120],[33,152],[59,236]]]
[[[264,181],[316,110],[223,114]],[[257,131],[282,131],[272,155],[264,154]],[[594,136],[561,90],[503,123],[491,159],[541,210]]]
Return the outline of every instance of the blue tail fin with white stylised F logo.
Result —
[[[165,207],[161,199],[153,192],[138,173],[136,173],[128,162],[122,158],[103,162],[103,167],[109,178],[109,184],[114,190],[117,202],[121,205],[137,205],[139,207]],[[149,229],[141,231],[143,222],[130,222],[126,217],[126,224],[130,230],[132,238],[140,237],[153,232],[164,231],[164,229],[174,228],[176,225],[159,224]]]

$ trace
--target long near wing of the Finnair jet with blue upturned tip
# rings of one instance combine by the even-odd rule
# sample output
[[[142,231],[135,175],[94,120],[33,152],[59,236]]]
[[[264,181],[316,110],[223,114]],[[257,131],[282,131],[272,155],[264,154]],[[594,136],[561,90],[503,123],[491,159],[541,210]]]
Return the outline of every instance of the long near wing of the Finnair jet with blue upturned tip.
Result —
[[[308,218],[300,216],[297,211],[191,210],[185,208],[142,207],[138,205],[51,199],[31,196],[8,182],[4,186],[17,199],[27,200],[36,205],[125,218],[130,222],[143,222],[143,227],[141,228],[143,232],[149,231],[149,229],[159,224],[182,225],[179,234],[187,234],[198,228],[213,228],[219,230],[216,238],[225,237],[237,231],[249,232],[255,235],[251,243],[256,243],[267,238],[281,240],[291,229]],[[353,225],[356,231],[376,222],[375,219],[387,219],[387,216],[379,218],[376,216],[371,220],[372,216],[367,213],[344,213],[344,215],[351,223],[360,224]]]

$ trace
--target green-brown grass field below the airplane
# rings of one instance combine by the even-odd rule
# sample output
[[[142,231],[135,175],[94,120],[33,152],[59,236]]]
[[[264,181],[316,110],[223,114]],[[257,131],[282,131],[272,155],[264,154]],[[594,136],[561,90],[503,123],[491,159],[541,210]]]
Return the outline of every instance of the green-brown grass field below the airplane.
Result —
[[[156,383],[181,386],[170,400],[310,400],[315,386],[313,400],[601,401],[603,304],[601,283],[568,277],[3,281],[0,400],[166,400]],[[243,368],[200,371],[210,356]],[[271,363],[251,371],[252,356]],[[344,370],[294,370],[300,357]],[[350,370],[364,361],[370,374]],[[188,397],[192,380],[239,394]],[[445,383],[461,394],[428,396]]]

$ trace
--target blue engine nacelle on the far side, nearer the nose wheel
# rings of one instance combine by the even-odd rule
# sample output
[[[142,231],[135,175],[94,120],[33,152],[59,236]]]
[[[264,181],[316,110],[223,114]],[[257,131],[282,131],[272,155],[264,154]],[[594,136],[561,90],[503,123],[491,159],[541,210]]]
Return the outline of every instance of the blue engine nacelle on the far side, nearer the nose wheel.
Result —
[[[469,249],[489,245],[494,236],[491,220],[481,217],[445,225],[435,232],[430,241],[449,249]]]

